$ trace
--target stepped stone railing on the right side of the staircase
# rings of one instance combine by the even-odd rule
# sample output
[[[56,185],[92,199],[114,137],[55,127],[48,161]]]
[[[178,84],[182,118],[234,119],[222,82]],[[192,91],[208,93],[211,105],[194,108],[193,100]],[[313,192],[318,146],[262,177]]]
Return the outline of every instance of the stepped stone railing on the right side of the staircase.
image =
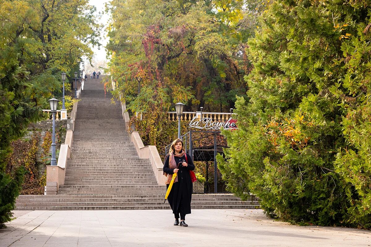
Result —
[[[121,100],[121,96],[120,96]],[[121,102],[122,117],[125,121],[126,130],[129,131],[129,113],[126,110],[126,104]],[[130,133],[130,139],[134,143],[135,149],[137,150],[139,158],[148,158],[155,174],[158,185],[165,185],[167,177],[164,176],[162,167],[162,160],[160,154],[157,151],[156,146],[144,146],[138,131],[132,131]]]

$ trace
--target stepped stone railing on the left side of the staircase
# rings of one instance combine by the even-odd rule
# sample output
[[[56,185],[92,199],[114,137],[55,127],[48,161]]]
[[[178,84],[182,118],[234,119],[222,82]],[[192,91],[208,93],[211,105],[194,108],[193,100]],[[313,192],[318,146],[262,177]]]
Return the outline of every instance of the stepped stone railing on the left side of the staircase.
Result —
[[[65,184],[67,159],[71,154],[73,143],[73,130],[75,128],[75,118],[78,102],[73,104],[71,118],[68,119],[65,144],[60,145],[58,162],[56,166],[46,166],[46,195],[56,195],[60,185]]]

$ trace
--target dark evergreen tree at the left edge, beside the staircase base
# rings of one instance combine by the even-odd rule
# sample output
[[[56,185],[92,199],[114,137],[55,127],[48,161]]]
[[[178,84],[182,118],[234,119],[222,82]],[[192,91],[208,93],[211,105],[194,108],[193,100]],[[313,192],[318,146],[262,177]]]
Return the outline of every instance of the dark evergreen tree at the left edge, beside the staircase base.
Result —
[[[40,107],[27,98],[31,85],[28,73],[19,67],[17,60],[0,62],[0,228],[9,221],[15,200],[22,189],[22,167],[6,173],[7,158],[12,150],[10,143],[20,138],[30,121],[41,116]]]

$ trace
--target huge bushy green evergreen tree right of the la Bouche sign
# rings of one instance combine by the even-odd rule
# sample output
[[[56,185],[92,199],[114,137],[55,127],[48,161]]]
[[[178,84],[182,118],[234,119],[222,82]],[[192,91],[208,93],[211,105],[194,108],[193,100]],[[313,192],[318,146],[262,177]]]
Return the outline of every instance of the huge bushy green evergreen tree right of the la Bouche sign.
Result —
[[[371,1],[277,0],[248,54],[249,102],[224,131],[228,188],[269,216],[370,228]]]

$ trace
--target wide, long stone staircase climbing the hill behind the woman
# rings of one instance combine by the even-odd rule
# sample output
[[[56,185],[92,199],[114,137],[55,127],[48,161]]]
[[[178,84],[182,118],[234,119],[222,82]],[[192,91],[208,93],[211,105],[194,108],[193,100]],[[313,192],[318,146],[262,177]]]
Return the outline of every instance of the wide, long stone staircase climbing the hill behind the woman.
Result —
[[[100,80],[87,80],[78,103],[65,185],[57,195],[21,195],[17,210],[169,209],[165,186],[157,184],[148,159],[138,157],[122,120]],[[194,194],[192,208],[258,208],[255,198]]]

